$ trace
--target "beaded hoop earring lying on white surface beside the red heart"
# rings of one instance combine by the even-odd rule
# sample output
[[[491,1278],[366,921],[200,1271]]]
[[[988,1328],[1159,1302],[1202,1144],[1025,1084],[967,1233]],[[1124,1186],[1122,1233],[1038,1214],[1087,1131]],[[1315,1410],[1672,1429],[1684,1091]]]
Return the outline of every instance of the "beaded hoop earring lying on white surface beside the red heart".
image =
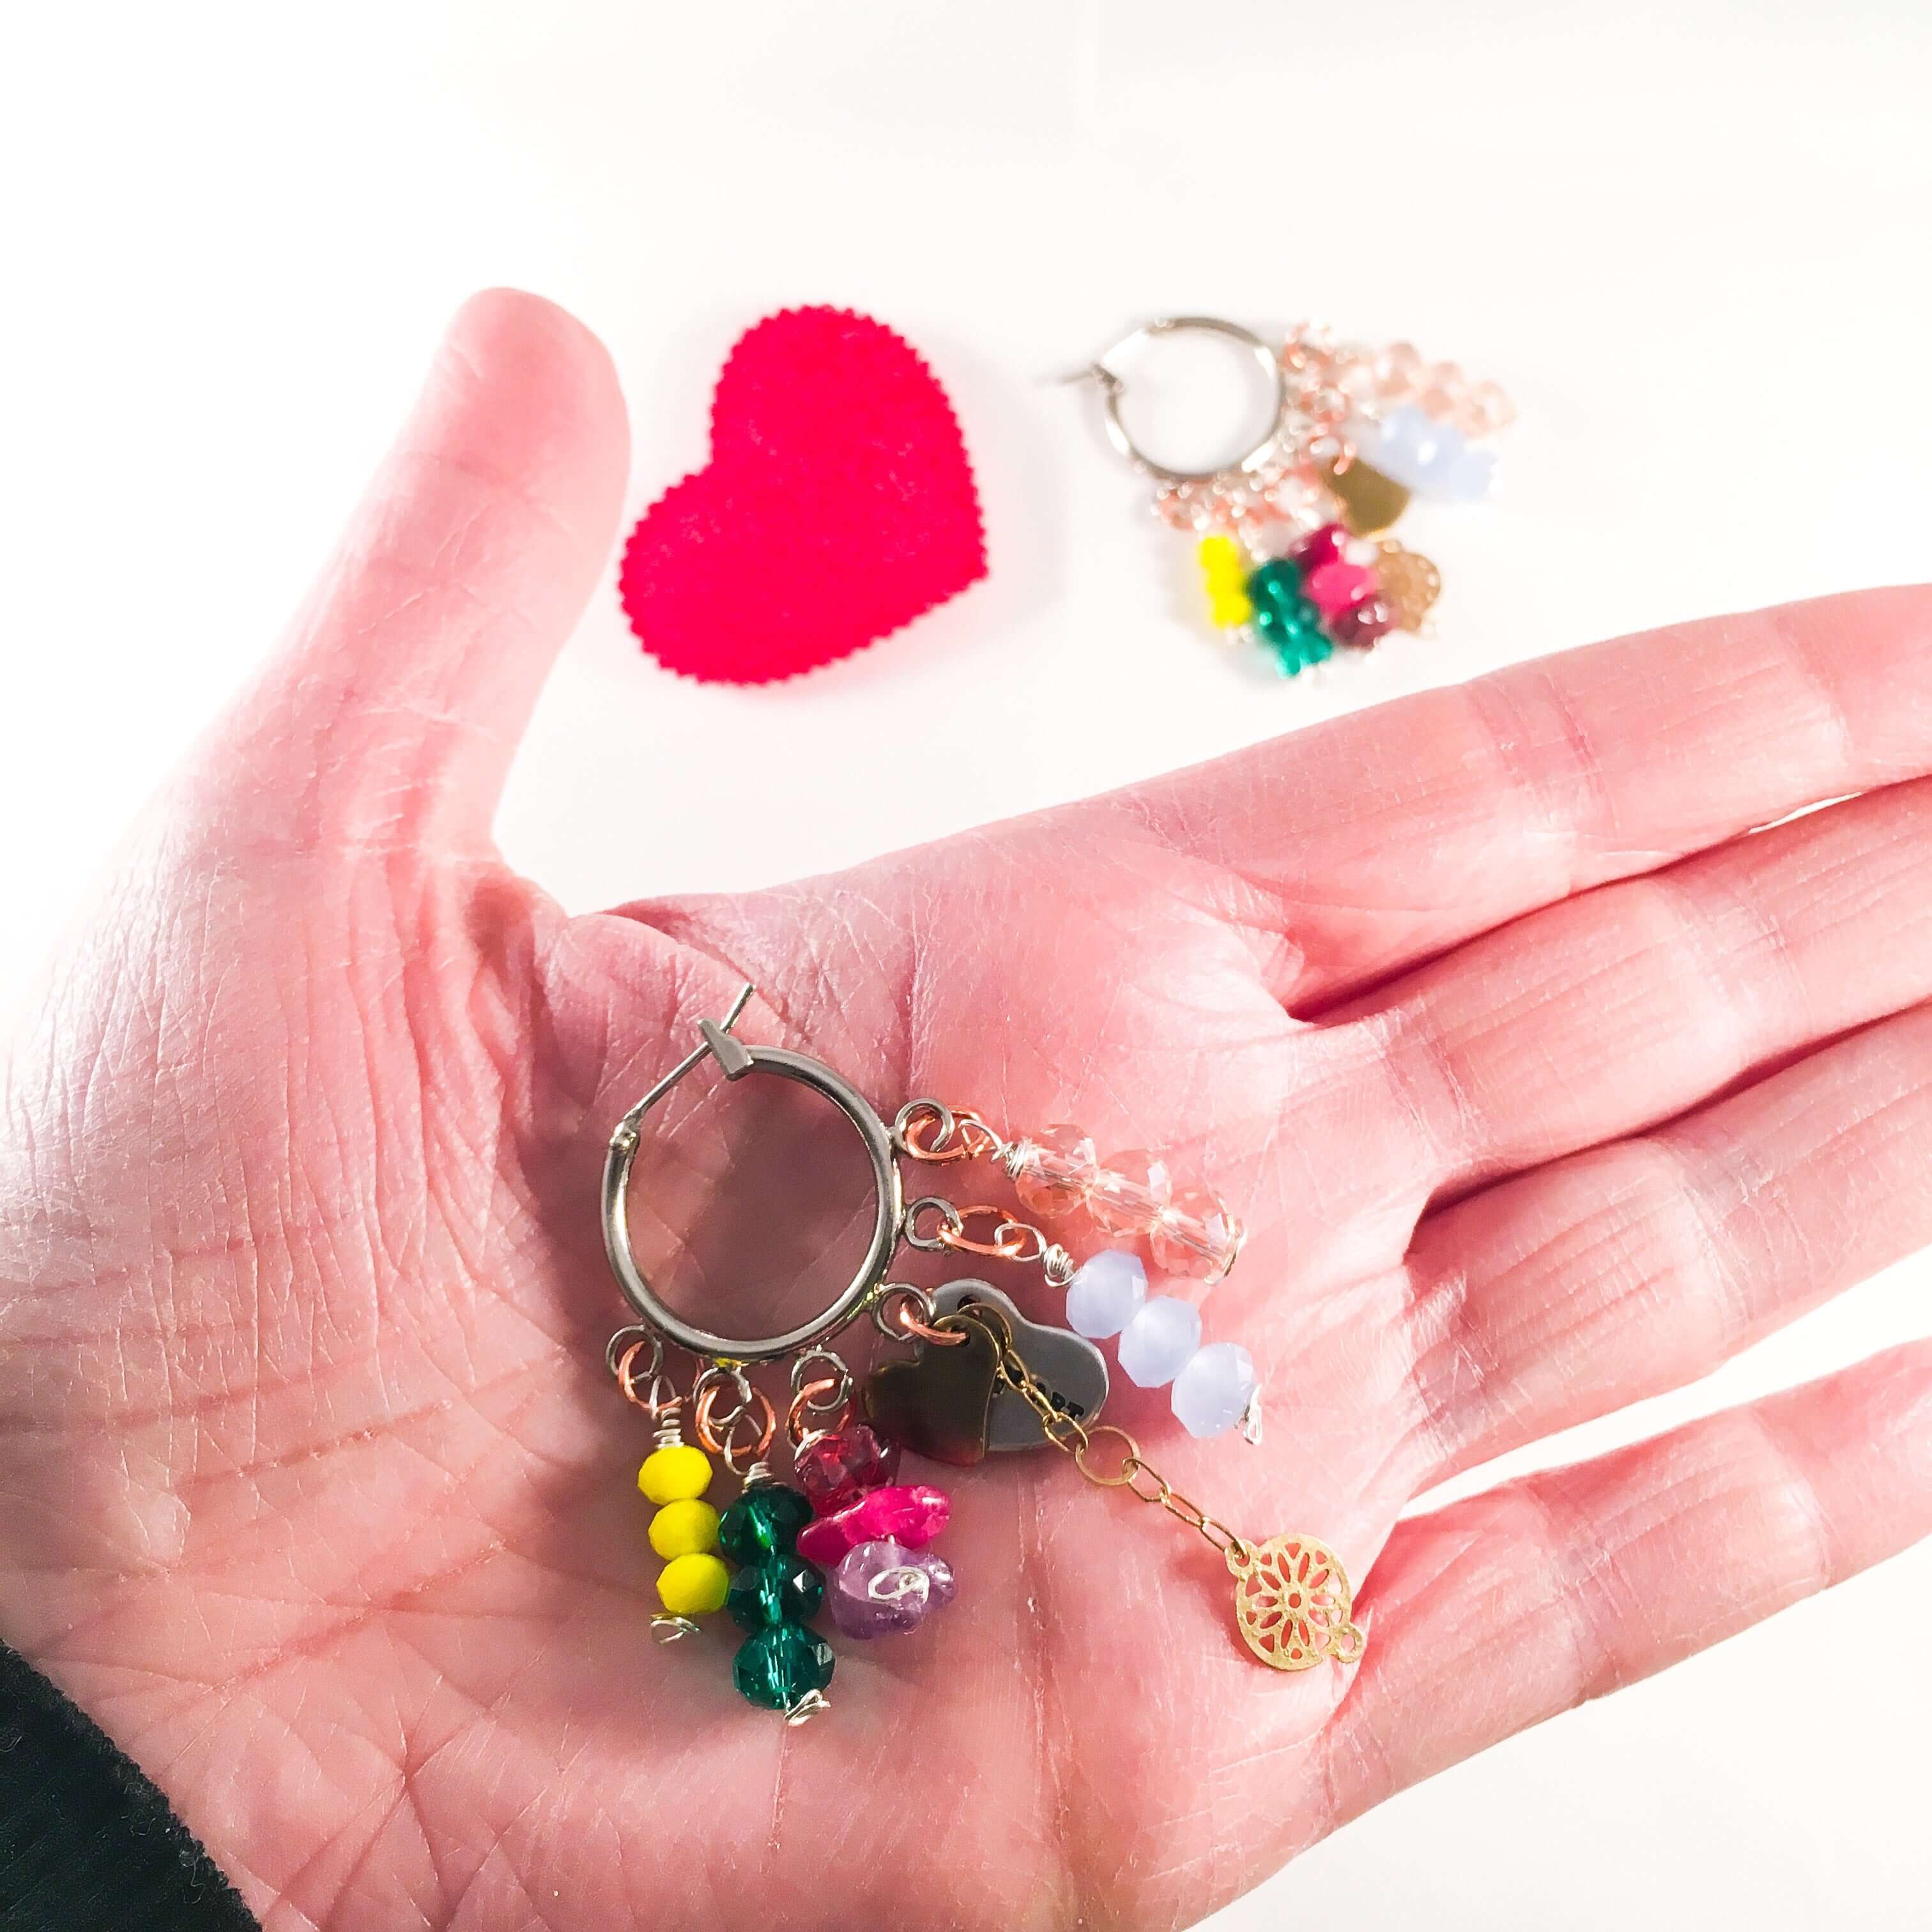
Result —
[[[1215,469],[1173,469],[1134,440],[1126,381],[1109,357],[1175,334],[1248,350],[1269,384],[1267,433]],[[1213,315],[1134,328],[1068,381],[1099,386],[1107,439],[1155,485],[1153,512],[1196,537],[1208,612],[1262,645],[1285,676],[1393,630],[1420,632],[1441,574],[1389,529],[1412,497],[1478,502],[1495,456],[1488,439],[1515,410],[1493,383],[1426,363],[1406,342],[1376,350],[1314,325],[1271,342]]]

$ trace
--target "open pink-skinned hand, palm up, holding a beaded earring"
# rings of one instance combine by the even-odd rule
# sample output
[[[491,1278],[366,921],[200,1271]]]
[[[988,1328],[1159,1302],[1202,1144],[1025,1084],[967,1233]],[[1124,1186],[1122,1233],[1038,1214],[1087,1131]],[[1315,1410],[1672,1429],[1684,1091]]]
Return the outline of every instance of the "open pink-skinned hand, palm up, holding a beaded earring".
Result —
[[[1932,1528],[1926,1347],[1397,1522],[1932,1238],[1926,593],[564,918],[489,825],[624,477],[597,342],[473,301],[12,1059],[4,1634],[272,1932],[1188,1922]],[[1206,1544],[1047,1457],[960,1476],[968,1602],[819,1723],[736,1704],[715,1636],[649,1646],[583,1200],[742,976],[750,1037],[881,1103],[1076,1103],[1240,1202],[1211,1325],[1320,1443],[1121,1420],[1236,1526],[1343,1551],[1345,1700],[1248,1660]]]

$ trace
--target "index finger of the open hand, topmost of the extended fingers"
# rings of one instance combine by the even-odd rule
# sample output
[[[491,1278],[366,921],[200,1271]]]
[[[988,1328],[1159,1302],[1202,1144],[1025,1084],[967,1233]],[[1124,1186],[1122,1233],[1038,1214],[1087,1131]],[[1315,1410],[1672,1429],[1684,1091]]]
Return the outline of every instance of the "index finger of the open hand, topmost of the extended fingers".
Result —
[[[1097,800],[1256,893],[1327,1005],[1573,893],[1932,769],[1932,587],[1515,665]]]

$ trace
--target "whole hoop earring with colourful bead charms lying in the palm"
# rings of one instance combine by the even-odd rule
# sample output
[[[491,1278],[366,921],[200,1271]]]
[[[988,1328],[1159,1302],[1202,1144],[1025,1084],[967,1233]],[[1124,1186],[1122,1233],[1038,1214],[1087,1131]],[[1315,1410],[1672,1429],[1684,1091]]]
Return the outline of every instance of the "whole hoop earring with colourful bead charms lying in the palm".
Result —
[[[1246,1424],[1260,1439],[1248,1350],[1204,1345],[1194,1304],[1150,1296],[1146,1264],[1126,1246],[1146,1242],[1161,1269],[1219,1281],[1242,1244],[1227,1206],[1200,1186],[1177,1188],[1159,1155],[1099,1159],[1092,1136],[1074,1126],[1007,1140],[978,1113],[916,1099],[887,1128],[831,1068],[734,1039],[730,1028],[750,997],[744,987],[723,1022],[701,1022],[701,1045],[626,1113],[605,1157],[605,1248],[641,1316],[611,1337],[605,1362],[655,1435],[638,1470],[653,1509],[649,1544],[663,1559],[653,1634],[696,1636],[723,1609],[740,1633],[730,1669],[738,1692],[802,1723],[829,1708],[835,1656],[813,1629],[821,1613],[842,1636],[869,1642],[918,1631],[958,1594],[952,1565],[933,1548],[951,1497],[902,1480],[902,1453],[972,1466],[987,1455],[1051,1447],[1088,1482],[1130,1490],[1221,1551],[1236,1582],[1236,1629],[1264,1663],[1306,1669],[1358,1656],[1362,1636],[1333,1551],[1312,1538],[1238,1536],[1180,1495],[1132,1435],[1099,1420],[1109,1376],[1095,1341],[1119,1337],[1121,1372],[1140,1387],[1171,1387],[1173,1412],[1192,1435]],[[639,1121],[707,1059],[726,1080],[771,1070],[817,1090],[860,1130],[871,1159],[877,1213],[866,1260],[831,1306],[782,1335],[734,1339],[694,1327],[659,1298],[630,1252],[626,1190]],[[1026,1211],[1045,1219],[1078,1209],[1121,1246],[1076,1265],[1065,1246],[1003,1208],[937,1194],[904,1200],[900,1161],[972,1159],[997,1163]],[[985,1281],[949,1281],[931,1294],[893,1283],[887,1273],[900,1244],[1037,1265],[1066,1296],[1066,1327],[1028,1320]],[[862,1314],[889,1341],[910,1343],[910,1356],[873,1366],[860,1383],[831,1343]],[[684,1387],[668,1349],[696,1362]],[[781,1364],[790,1378],[782,1424],[750,1374]],[[786,1451],[792,1482],[773,1474],[773,1459]],[[740,1484],[723,1511],[709,1499],[721,1463]]]

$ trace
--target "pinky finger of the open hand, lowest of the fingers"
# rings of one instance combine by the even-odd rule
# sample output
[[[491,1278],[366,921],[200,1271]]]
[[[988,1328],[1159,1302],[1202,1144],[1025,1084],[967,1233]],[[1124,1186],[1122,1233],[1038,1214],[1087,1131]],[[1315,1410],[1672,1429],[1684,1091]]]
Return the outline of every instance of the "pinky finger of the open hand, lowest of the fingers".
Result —
[[[1932,1534],[1932,1343],[1399,1522],[1329,1828]]]

